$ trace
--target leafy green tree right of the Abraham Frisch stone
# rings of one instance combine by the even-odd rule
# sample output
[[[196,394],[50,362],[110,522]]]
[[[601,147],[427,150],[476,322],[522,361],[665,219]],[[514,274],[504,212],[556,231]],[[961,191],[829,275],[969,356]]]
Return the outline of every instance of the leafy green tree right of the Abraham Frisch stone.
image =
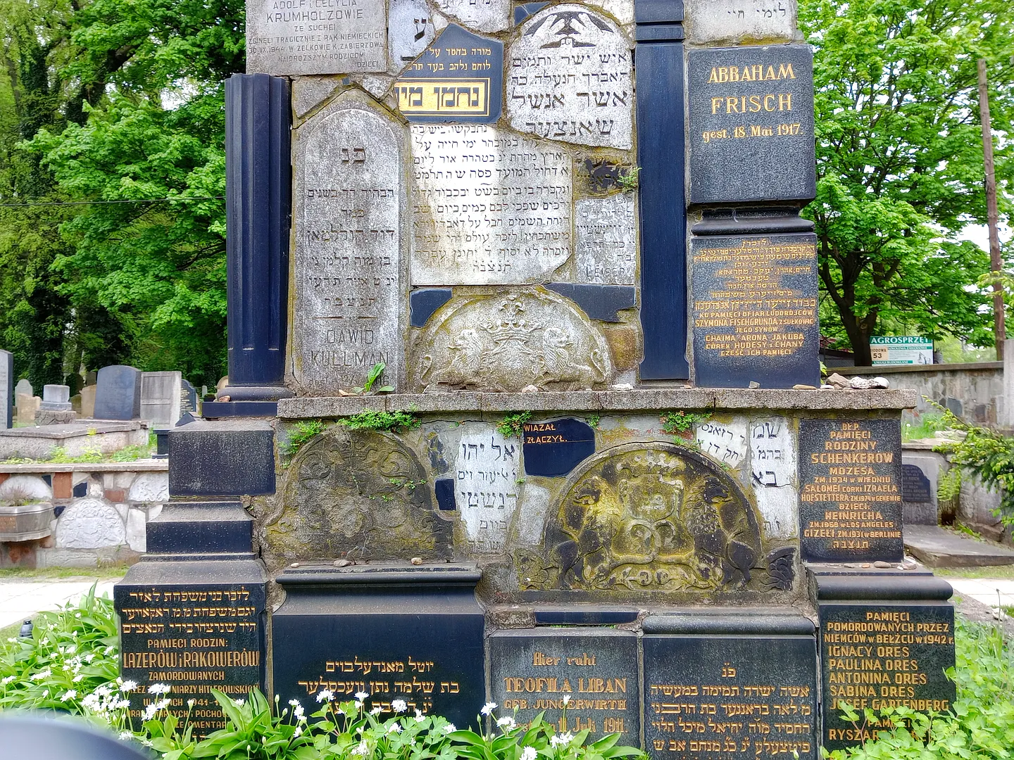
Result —
[[[869,365],[871,335],[917,330],[993,343],[976,61],[994,130],[1014,117],[1009,0],[800,0],[814,47],[821,330]],[[1012,146],[997,146],[1002,213]]]

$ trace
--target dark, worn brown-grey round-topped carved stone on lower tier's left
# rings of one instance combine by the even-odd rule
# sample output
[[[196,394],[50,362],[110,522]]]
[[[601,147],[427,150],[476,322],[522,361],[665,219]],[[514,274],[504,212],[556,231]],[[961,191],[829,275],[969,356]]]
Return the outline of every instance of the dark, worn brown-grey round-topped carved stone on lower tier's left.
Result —
[[[434,512],[415,453],[394,436],[329,431],[295,456],[282,492],[263,530],[273,564],[451,556],[453,528]]]

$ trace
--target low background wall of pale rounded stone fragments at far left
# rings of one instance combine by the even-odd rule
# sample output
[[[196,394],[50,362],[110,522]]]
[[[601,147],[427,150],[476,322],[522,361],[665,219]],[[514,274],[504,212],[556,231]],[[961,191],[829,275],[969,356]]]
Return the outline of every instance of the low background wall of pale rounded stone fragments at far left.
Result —
[[[51,534],[0,542],[0,567],[95,566],[137,561],[145,526],[168,502],[168,465],[144,463],[0,465],[0,500],[28,492],[51,502]]]

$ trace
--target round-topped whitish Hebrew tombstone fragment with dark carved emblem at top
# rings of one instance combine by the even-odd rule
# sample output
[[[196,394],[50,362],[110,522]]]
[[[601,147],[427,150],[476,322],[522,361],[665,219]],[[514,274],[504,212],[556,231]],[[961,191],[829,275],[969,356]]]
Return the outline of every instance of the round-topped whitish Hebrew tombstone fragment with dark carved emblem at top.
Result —
[[[611,19],[576,4],[526,19],[507,50],[507,117],[519,132],[630,148],[633,56]]]

